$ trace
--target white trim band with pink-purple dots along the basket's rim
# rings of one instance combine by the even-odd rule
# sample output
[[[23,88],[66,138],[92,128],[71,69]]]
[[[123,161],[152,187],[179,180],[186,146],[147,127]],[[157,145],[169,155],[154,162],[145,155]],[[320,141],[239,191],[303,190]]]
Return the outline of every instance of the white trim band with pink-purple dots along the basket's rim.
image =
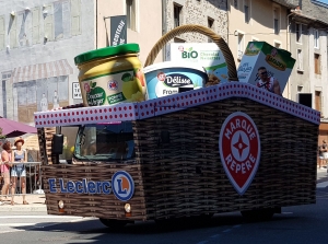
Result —
[[[320,124],[319,112],[255,85],[241,82],[212,85],[139,103],[37,112],[34,113],[34,119],[37,128],[138,120],[231,97],[249,98],[316,125]]]

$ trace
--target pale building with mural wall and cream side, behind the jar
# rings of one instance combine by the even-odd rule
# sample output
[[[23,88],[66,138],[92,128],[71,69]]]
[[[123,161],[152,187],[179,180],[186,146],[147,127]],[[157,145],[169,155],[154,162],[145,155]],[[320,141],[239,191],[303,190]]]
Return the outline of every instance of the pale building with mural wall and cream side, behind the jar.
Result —
[[[0,0],[0,116],[33,125],[34,112],[81,103],[73,58],[109,45],[110,16],[127,15],[144,62],[162,13],[153,0]]]

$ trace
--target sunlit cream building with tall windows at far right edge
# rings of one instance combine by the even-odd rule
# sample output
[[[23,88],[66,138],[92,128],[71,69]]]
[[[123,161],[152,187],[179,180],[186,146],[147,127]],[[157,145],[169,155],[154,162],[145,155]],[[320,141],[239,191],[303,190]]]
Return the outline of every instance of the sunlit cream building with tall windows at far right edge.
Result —
[[[292,11],[291,50],[296,57],[292,75],[292,100],[321,112],[318,143],[328,140],[328,4],[303,0]]]

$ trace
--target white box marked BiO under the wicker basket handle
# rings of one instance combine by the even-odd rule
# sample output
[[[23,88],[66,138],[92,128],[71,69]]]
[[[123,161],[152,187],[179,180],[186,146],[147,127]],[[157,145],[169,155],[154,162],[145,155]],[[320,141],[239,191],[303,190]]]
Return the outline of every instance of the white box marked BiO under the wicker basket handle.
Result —
[[[194,63],[203,67],[209,84],[227,81],[227,67],[222,51],[214,43],[172,43],[166,46],[166,61]]]

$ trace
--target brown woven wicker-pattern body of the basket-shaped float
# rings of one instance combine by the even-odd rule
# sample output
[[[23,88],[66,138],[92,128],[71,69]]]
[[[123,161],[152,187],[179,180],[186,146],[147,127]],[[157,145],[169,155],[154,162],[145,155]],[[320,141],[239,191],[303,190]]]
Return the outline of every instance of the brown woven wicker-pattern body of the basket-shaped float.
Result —
[[[259,167],[243,196],[226,176],[219,152],[220,129],[234,112],[251,117],[261,140]],[[169,143],[160,141],[162,131],[169,132]],[[49,194],[48,178],[110,181],[116,171],[133,177],[133,220],[316,202],[318,126],[301,118],[248,98],[230,98],[133,121],[133,133],[134,162],[44,165],[48,213],[60,214],[58,200],[65,200],[69,214],[126,219],[125,202],[113,194]]]

